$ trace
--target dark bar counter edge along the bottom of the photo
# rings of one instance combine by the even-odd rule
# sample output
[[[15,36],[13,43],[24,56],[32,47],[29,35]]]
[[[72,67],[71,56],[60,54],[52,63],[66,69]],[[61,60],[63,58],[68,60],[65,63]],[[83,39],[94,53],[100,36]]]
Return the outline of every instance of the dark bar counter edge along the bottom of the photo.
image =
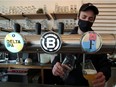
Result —
[[[71,86],[71,85],[47,85],[37,83],[16,83],[16,82],[0,82],[0,87],[87,87],[87,86]]]

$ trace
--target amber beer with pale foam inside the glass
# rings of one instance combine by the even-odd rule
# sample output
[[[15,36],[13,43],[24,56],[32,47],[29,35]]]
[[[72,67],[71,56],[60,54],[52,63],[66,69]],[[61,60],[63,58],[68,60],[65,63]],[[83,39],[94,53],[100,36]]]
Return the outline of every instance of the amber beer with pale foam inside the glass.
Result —
[[[95,79],[97,72],[92,69],[85,69],[84,71],[86,72],[86,74],[84,74],[84,78],[88,80],[89,87],[92,87],[92,81]]]

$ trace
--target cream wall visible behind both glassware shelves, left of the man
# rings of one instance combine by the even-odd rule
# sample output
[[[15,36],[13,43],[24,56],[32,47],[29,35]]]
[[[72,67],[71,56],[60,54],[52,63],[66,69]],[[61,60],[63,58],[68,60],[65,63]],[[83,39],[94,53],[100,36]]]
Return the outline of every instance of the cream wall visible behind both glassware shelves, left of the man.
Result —
[[[80,5],[82,4],[82,1],[81,0],[0,0],[0,9],[5,8],[5,9],[7,9],[7,10],[5,10],[5,12],[9,13],[8,8],[10,8],[10,7],[16,8],[17,6],[23,6],[23,7],[35,6],[35,8],[37,10],[38,8],[43,8],[44,5],[46,5],[47,13],[52,13],[55,10],[56,4],[58,4],[59,6],[69,6],[69,8],[70,8],[70,5],[77,5],[77,10],[78,10]],[[22,10],[24,10],[24,9],[22,9]],[[2,12],[2,13],[4,13],[4,12]],[[37,21],[43,22],[43,20],[37,20]],[[44,22],[45,21],[46,20],[44,20]],[[20,22],[20,21],[18,21],[18,22]],[[2,21],[2,23],[3,23],[3,21]],[[53,20],[47,21],[47,23],[48,24],[46,24],[46,26],[48,29],[52,29],[54,27],[56,28]],[[6,21],[4,24],[6,24]]]

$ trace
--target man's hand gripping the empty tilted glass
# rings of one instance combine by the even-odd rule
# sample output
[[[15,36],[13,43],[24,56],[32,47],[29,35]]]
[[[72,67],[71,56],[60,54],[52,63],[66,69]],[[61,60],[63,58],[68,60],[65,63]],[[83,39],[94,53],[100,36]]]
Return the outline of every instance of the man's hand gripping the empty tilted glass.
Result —
[[[63,66],[60,62],[57,62],[53,69],[52,69],[52,73],[54,76],[60,76],[63,77],[64,76],[64,70],[63,70]]]

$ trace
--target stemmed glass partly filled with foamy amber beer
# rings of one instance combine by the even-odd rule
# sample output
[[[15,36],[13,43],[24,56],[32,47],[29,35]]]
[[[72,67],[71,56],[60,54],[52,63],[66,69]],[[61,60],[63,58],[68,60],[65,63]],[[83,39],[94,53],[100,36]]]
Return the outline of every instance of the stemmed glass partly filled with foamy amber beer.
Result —
[[[83,62],[83,76],[86,80],[88,80],[89,87],[92,87],[92,81],[95,79],[96,74],[97,71],[91,60],[85,60]]]

